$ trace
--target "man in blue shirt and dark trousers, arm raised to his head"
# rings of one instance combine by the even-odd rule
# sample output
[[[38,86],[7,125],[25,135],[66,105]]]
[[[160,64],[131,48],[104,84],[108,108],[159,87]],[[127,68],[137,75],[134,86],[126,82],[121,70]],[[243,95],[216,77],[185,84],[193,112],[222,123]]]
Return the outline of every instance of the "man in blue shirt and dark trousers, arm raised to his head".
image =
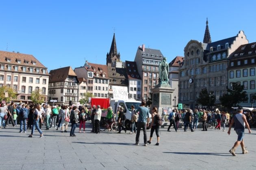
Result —
[[[139,112],[139,119],[137,121],[137,134],[136,134],[136,143],[135,145],[139,145],[139,134],[141,132],[141,127],[143,129],[143,135],[144,135],[144,146],[147,146],[147,132],[146,128],[149,125],[149,117],[150,113],[148,108],[145,107],[146,102],[142,101],[141,106],[136,110],[136,113]],[[147,121],[146,121],[147,119]]]

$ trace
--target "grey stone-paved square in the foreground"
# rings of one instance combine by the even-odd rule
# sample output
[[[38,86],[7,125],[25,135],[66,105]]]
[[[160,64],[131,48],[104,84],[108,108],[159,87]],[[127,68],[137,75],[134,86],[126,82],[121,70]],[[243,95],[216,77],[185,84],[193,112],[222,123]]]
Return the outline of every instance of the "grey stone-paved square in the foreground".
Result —
[[[33,138],[27,133],[18,133],[18,127],[0,130],[0,170],[167,170],[167,169],[256,169],[256,130],[248,134],[245,130],[245,146],[248,154],[243,155],[241,147],[237,156],[228,151],[236,141],[234,130],[226,132],[209,129],[202,132],[176,133],[171,128],[161,128],[160,145],[155,146],[156,135],[151,144],[135,146],[135,134],[114,132],[90,133],[91,123],[86,123],[86,132],[69,137],[55,129],[44,130],[44,138],[35,131]],[[68,127],[70,130],[70,126]],[[147,131],[149,138],[150,130]]]

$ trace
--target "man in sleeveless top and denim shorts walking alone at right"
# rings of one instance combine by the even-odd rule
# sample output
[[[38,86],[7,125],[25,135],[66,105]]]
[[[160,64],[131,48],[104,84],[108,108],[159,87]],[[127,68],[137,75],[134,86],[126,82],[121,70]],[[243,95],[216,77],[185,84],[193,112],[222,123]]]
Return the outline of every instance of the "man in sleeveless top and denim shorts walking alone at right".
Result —
[[[234,146],[232,147],[232,149],[229,150],[229,152],[233,156],[236,156],[235,151],[236,151],[236,148],[240,144],[242,147],[243,154],[246,154],[246,153],[248,153],[248,151],[245,150],[245,146],[244,146],[244,142],[243,142],[243,137],[245,134],[245,125],[246,125],[247,129],[249,130],[249,133],[251,133],[251,130],[250,130],[250,127],[246,120],[245,115],[243,115],[243,109],[237,108],[237,114],[234,115],[234,117],[232,118],[232,120],[230,122],[229,129],[228,129],[228,135],[230,135],[230,130],[231,130],[233,123],[235,123],[235,130],[236,130],[236,134],[238,135],[238,137],[237,137],[237,141],[234,143]]]

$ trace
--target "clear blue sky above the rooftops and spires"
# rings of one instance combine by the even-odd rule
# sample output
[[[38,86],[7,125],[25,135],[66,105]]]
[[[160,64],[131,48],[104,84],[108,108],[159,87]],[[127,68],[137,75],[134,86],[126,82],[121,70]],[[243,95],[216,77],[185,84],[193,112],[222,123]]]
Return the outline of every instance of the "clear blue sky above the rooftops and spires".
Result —
[[[243,30],[256,42],[252,0],[1,0],[0,50],[35,56],[48,71],[106,64],[113,33],[121,60],[137,48],[159,49],[167,62],[184,56],[189,40],[212,42]]]

